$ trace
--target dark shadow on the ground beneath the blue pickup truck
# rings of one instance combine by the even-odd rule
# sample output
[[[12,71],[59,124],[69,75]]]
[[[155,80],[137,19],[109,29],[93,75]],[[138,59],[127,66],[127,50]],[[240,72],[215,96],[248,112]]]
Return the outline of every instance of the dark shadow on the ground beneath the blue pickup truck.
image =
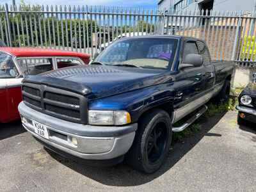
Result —
[[[132,168],[127,166],[125,163],[121,163],[110,168],[99,168],[76,163],[74,161],[65,159],[64,157],[58,156],[49,150],[47,150],[47,152],[49,152],[54,159],[64,164],[68,168],[81,173],[85,177],[96,180],[101,184],[107,186],[138,186],[150,182],[170,170],[186,153],[189,152],[189,150],[191,150],[191,148],[202,140],[204,136],[214,136],[220,138],[221,135],[212,133],[211,129],[224,115],[225,113],[207,118],[206,120],[200,120],[204,121],[199,122],[202,124],[201,131],[196,133],[194,136],[185,139],[183,142],[175,143],[172,148],[170,148],[170,154],[166,160],[166,163],[164,163],[159,171],[152,175],[145,175],[137,172],[136,170],[132,170]]]

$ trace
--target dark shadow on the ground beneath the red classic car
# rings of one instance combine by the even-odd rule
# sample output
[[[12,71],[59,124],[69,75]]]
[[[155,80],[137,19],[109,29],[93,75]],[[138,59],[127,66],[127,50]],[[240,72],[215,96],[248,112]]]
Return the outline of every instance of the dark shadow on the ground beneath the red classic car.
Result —
[[[21,134],[22,132],[26,132],[26,129],[22,127],[20,120],[7,124],[0,124],[0,140],[10,138],[17,134]]]

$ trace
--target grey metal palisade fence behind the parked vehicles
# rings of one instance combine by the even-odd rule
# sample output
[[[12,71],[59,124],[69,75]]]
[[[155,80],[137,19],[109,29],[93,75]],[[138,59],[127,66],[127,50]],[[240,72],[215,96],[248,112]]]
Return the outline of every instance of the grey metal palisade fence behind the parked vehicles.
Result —
[[[92,56],[124,36],[184,35],[205,40],[213,60],[256,67],[254,12],[171,12],[102,6],[0,5],[0,38]]]

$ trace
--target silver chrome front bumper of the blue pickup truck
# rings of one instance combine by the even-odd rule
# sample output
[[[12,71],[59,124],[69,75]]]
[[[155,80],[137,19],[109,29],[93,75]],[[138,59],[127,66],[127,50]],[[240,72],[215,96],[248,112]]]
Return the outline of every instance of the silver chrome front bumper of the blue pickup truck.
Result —
[[[82,159],[113,159],[131,148],[137,124],[119,126],[93,126],[67,122],[45,115],[20,102],[19,112],[24,128],[42,143]],[[31,120],[47,126],[49,140],[35,133]],[[76,138],[77,145],[70,142]]]

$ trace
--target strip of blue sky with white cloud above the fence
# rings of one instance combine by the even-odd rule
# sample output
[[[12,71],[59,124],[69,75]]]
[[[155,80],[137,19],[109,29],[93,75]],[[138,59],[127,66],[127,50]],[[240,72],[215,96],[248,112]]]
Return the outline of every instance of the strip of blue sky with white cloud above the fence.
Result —
[[[20,0],[15,0],[17,4]],[[72,4],[72,5],[103,5],[103,6],[126,6],[156,8],[157,0],[24,0],[26,4]],[[0,4],[12,3],[12,0],[1,0]]]

